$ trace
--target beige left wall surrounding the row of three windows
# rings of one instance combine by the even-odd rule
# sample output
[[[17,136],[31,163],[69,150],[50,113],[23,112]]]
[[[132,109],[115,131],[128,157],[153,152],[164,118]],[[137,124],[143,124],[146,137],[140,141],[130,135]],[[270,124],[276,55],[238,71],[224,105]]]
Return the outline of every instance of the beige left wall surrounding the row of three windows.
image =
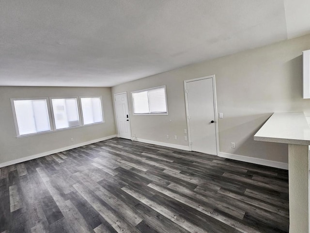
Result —
[[[78,96],[102,96],[105,123],[16,137],[11,98]],[[115,134],[111,88],[0,86],[0,119],[0,164]]]

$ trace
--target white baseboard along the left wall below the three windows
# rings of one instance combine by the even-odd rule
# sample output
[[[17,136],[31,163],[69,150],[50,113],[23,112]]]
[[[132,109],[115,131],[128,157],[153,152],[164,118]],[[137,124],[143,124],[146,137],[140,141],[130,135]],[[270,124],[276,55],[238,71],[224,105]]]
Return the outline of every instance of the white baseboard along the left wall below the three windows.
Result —
[[[107,136],[107,137],[97,138],[97,139],[94,139],[94,140],[91,140],[91,141],[87,141],[87,142],[82,142],[82,143],[74,144],[74,145],[69,146],[69,147],[63,147],[63,148],[59,148],[59,149],[56,149],[56,150],[50,150],[50,151],[46,151],[46,152],[43,152],[43,153],[40,153],[40,154],[34,154],[34,155],[30,155],[30,156],[23,157],[23,158],[20,158],[20,159],[11,160],[11,161],[8,161],[8,162],[1,163],[0,167],[10,166],[10,165],[13,165],[13,164],[18,164],[18,163],[26,162],[26,161],[29,161],[31,159],[37,159],[37,158],[40,158],[40,157],[43,157],[43,156],[47,156],[47,155],[50,155],[50,154],[55,154],[55,153],[62,152],[64,150],[75,149],[75,148],[86,146],[86,145],[89,145],[89,144],[92,144],[92,143],[95,143],[95,142],[101,142],[101,141],[104,141],[104,140],[108,140],[108,139],[111,139],[113,137],[116,137],[116,134],[110,135],[110,136]]]

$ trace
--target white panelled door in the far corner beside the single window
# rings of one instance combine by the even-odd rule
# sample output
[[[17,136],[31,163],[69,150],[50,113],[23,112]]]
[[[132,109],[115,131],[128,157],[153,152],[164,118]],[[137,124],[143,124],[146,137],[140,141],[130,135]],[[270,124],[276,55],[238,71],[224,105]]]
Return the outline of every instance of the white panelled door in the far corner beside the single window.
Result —
[[[131,139],[127,93],[115,94],[114,98],[119,136]]]

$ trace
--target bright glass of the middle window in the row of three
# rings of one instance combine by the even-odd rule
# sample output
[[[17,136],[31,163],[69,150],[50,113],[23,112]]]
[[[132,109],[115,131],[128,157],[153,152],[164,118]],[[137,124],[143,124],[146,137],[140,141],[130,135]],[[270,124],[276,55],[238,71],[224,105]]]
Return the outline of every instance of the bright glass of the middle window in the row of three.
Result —
[[[70,99],[52,99],[53,115],[55,128],[65,129],[79,126],[78,100]]]

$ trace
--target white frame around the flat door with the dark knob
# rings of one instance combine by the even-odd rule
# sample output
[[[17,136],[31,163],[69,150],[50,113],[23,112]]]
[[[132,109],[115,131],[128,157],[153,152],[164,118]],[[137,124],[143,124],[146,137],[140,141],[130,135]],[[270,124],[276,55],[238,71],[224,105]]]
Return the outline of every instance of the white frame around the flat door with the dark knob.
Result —
[[[188,136],[188,147],[189,150],[192,151],[191,145],[191,136],[190,136],[190,125],[189,125],[189,117],[188,117],[188,100],[187,100],[187,92],[186,92],[186,84],[193,81],[199,81],[203,79],[212,79],[213,83],[213,106],[214,106],[214,121],[215,121],[215,133],[216,133],[216,143],[217,143],[217,156],[219,155],[219,139],[218,139],[218,123],[217,123],[217,93],[216,93],[216,84],[215,84],[215,74],[208,75],[195,79],[184,80],[184,95],[185,95],[185,107],[186,107],[186,122],[187,122],[187,136]]]

